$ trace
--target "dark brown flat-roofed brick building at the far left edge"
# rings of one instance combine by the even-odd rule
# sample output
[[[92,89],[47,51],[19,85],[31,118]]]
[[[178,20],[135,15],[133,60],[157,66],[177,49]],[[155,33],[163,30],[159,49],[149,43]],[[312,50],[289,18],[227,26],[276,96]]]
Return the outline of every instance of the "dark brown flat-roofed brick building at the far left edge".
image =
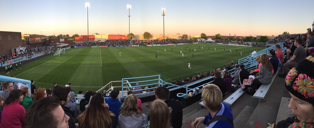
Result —
[[[25,47],[21,32],[0,31],[0,56],[11,55],[11,49],[17,47]]]

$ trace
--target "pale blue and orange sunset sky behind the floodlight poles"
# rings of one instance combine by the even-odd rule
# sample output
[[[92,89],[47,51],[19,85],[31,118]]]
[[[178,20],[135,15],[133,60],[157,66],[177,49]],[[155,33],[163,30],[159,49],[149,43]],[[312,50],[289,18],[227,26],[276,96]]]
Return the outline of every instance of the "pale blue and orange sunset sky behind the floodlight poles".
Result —
[[[165,34],[279,35],[305,33],[312,28],[313,0],[0,0],[0,31],[22,34],[89,35]]]

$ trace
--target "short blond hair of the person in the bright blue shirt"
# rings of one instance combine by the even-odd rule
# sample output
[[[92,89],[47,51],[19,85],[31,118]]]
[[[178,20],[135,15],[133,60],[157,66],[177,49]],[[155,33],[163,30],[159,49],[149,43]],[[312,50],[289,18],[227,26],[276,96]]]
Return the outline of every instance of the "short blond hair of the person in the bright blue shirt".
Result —
[[[210,110],[216,111],[220,109],[220,102],[222,101],[222,92],[219,87],[214,84],[207,84],[203,86],[202,92],[203,101],[206,107]]]

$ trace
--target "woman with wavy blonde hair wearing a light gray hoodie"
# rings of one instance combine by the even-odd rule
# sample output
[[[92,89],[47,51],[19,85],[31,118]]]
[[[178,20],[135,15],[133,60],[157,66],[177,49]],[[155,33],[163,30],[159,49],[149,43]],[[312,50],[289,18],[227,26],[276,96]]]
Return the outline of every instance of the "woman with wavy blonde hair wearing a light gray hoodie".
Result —
[[[120,110],[119,128],[144,128],[147,125],[147,117],[138,110],[137,98],[134,94],[130,94],[124,99]]]

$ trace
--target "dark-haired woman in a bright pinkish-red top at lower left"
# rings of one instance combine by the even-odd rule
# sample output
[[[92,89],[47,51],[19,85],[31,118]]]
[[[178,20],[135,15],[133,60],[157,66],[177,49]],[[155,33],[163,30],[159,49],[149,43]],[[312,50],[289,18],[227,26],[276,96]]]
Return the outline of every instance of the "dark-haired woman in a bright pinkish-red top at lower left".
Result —
[[[25,125],[25,109],[19,103],[23,101],[24,95],[20,89],[14,89],[5,100],[2,111],[0,128],[21,128]]]

